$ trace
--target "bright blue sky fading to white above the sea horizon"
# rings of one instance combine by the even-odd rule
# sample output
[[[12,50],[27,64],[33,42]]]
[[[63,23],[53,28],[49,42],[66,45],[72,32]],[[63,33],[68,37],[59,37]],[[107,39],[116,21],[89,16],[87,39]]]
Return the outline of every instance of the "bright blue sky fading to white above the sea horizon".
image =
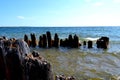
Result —
[[[120,0],[0,0],[0,26],[120,26]]]

